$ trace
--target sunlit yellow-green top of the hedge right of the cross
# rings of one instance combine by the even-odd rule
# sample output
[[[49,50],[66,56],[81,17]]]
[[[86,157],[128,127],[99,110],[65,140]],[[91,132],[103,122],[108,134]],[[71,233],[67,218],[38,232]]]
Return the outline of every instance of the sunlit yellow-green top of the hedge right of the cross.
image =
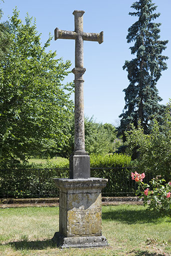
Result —
[[[90,155],[90,167],[127,167],[130,163],[131,157],[124,154]]]

